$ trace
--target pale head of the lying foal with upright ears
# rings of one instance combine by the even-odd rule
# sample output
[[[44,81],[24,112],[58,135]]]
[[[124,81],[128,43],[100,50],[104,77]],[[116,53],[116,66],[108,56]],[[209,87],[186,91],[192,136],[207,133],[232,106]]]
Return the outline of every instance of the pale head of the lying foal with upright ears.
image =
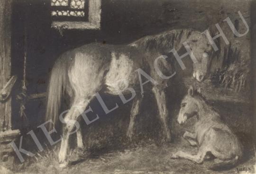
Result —
[[[177,120],[179,124],[184,123],[187,119],[197,114],[198,106],[194,95],[195,93],[200,92],[200,89],[194,90],[192,86],[189,87],[188,94],[183,98],[181,103],[181,109]]]

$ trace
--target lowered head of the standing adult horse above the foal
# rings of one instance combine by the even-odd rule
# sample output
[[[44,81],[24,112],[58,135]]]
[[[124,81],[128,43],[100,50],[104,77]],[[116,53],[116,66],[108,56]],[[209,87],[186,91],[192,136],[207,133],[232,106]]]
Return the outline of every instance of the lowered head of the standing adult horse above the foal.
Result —
[[[186,42],[197,60],[193,63],[193,78],[201,82],[208,75],[214,50],[206,35],[200,32],[195,32]]]

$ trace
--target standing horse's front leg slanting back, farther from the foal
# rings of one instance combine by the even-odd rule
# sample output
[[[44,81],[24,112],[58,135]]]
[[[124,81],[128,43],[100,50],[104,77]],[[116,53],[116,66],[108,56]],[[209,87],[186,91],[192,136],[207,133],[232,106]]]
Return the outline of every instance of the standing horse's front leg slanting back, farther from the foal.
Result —
[[[140,109],[142,100],[143,100],[143,96],[140,96],[140,95],[137,95],[133,99],[133,103],[132,103],[132,107],[131,107],[131,111],[130,111],[130,122],[129,122],[128,130],[126,133],[126,135],[129,139],[131,139],[133,136],[135,118],[136,118],[137,114],[139,113],[139,109]]]

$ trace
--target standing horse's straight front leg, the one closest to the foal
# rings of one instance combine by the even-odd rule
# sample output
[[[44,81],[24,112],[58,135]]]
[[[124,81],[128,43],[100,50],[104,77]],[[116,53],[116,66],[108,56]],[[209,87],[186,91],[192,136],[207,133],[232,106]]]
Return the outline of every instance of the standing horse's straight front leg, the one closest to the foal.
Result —
[[[165,98],[165,92],[164,89],[159,89],[158,87],[153,87],[152,91],[155,95],[155,99],[158,106],[160,121],[163,125],[164,134],[165,134],[165,140],[170,141],[171,140],[171,131],[168,126],[168,110],[166,107],[166,98]]]

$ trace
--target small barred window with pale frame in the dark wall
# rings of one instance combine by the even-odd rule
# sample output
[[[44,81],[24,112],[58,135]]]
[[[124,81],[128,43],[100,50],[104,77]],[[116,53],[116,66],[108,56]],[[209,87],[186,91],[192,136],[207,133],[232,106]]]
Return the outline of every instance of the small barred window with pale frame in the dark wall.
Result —
[[[101,0],[51,0],[52,27],[100,29]]]

